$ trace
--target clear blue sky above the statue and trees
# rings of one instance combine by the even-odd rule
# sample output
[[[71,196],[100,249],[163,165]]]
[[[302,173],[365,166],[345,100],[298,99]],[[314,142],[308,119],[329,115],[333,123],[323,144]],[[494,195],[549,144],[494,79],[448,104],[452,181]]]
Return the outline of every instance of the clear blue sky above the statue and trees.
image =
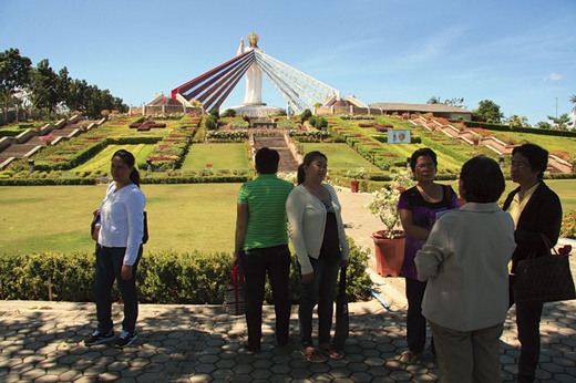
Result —
[[[0,51],[18,48],[34,66],[49,59],[128,105],[232,59],[250,32],[367,104],[492,100],[536,124],[569,114],[576,95],[574,0],[0,0]],[[264,82],[263,101],[285,107]]]

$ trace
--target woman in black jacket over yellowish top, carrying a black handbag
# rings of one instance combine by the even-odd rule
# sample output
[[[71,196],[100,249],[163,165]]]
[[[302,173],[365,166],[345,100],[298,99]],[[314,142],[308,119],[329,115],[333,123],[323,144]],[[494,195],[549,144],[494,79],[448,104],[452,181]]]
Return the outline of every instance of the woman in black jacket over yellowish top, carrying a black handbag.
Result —
[[[562,226],[562,205],[558,196],[542,180],[548,164],[548,152],[534,144],[525,144],[512,152],[511,176],[520,186],[511,192],[503,209],[514,219],[516,250],[512,256],[511,301],[514,304],[515,271],[518,261],[531,250],[543,248],[541,234],[556,245]],[[543,303],[516,302],[516,328],[521,342],[517,382],[533,382],[541,352],[539,321]]]

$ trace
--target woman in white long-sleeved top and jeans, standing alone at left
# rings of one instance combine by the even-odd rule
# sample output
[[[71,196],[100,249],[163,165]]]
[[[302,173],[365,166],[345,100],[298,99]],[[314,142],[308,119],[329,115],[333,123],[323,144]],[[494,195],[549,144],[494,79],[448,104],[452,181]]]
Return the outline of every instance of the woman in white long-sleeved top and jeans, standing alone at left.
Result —
[[[101,219],[94,234],[100,245],[94,281],[97,329],[84,340],[84,343],[92,345],[115,339],[112,287],[116,280],[124,303],[124,320],[115,345],[125,348],[137,338],[136,268],[142,256],[146,197],[140,189],[140,174],[132,153],[124,149],[115,152],[112,156],[111,173],[113,182],[100,206]]]

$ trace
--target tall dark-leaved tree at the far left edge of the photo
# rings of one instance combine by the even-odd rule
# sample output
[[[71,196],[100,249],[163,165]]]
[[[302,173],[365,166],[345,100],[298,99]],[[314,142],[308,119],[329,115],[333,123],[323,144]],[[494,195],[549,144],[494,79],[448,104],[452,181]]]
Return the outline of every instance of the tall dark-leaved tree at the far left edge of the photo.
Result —
[[[13,105],[14,95],[30,84],[31,69],[32,61],[20,55],[20,50],[11,48],[0,52],[0,102],[4,121],[8,108]]]

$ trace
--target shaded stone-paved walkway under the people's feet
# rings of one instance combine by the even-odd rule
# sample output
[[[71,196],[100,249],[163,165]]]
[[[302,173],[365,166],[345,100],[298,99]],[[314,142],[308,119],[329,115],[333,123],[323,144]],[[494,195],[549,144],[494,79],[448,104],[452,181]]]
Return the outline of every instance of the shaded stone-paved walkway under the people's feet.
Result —
[[[371,249],[370,234],[381,224],[364,208],[370,196],[342,189],[339,197],[348,235]],[[274,309],[265,308],[263,351],[254,355],[238,344],[247,335],[244,317],[219,306],[141,304],[138,339],[120,350],[83,344],[96,321],[93,303],[2,301],[0,382],[438,382],[428,350],[421,364],[399,362],[407,349],[403,280],[370,273],[380,300],[350,304],[346,356],[323,364],[299,353],[297,307],[288,346],[275,345]],[[541,382],[576,382],[575,306],[545,306]],[[122,306],[114,304],[114,315],[119,322]],[[504,382],[514,381],[518,358],[513,319],[514,309],[501,339]]]

